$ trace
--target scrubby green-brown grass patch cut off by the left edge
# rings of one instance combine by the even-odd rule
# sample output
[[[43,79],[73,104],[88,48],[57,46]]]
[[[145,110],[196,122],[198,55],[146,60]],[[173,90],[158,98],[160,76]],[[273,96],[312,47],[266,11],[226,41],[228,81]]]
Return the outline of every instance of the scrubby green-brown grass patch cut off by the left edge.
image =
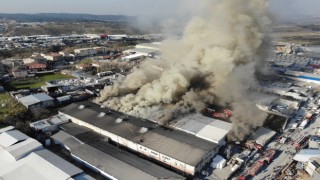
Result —
[[[12,115],[25,112],[26,108],[7,93],[0,93],[0,121]]]

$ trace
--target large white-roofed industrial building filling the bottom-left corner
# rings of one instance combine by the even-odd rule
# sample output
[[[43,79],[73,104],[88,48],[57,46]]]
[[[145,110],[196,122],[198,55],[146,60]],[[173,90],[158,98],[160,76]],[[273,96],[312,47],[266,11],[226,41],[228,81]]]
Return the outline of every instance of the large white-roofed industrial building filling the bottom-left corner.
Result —
[[[0,129],[0,159],[0,179],[93,179],[13,127]]]

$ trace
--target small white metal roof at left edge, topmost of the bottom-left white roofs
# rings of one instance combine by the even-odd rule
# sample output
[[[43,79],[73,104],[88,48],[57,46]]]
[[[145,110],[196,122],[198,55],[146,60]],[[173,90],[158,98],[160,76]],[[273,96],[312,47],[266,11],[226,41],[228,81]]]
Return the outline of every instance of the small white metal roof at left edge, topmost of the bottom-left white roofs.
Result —
[[[29,138],[30,137],[17,130],[7,131],[0,134],[0,146],[3,148],[7,148],[17,143],[18,141],[26,140]]]

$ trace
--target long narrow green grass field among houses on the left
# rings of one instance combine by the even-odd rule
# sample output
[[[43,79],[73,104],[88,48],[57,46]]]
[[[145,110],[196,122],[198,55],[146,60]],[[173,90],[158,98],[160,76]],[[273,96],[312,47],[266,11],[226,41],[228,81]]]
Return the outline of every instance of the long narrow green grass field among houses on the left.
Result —
[[[22,88],[40,88],[41,86],[45,85],[47,81],[52,81],[52,80],[60,80],[60,79],[70,79],[74,78],[73,76],[70,75],[64,75],[64,74],[49,74],[49,75],[43,75],[43,76],[38,76],[35,78],[29,78],[24,81],[13,81],[11,82],[11,86],[17,89],[22,89]]]

